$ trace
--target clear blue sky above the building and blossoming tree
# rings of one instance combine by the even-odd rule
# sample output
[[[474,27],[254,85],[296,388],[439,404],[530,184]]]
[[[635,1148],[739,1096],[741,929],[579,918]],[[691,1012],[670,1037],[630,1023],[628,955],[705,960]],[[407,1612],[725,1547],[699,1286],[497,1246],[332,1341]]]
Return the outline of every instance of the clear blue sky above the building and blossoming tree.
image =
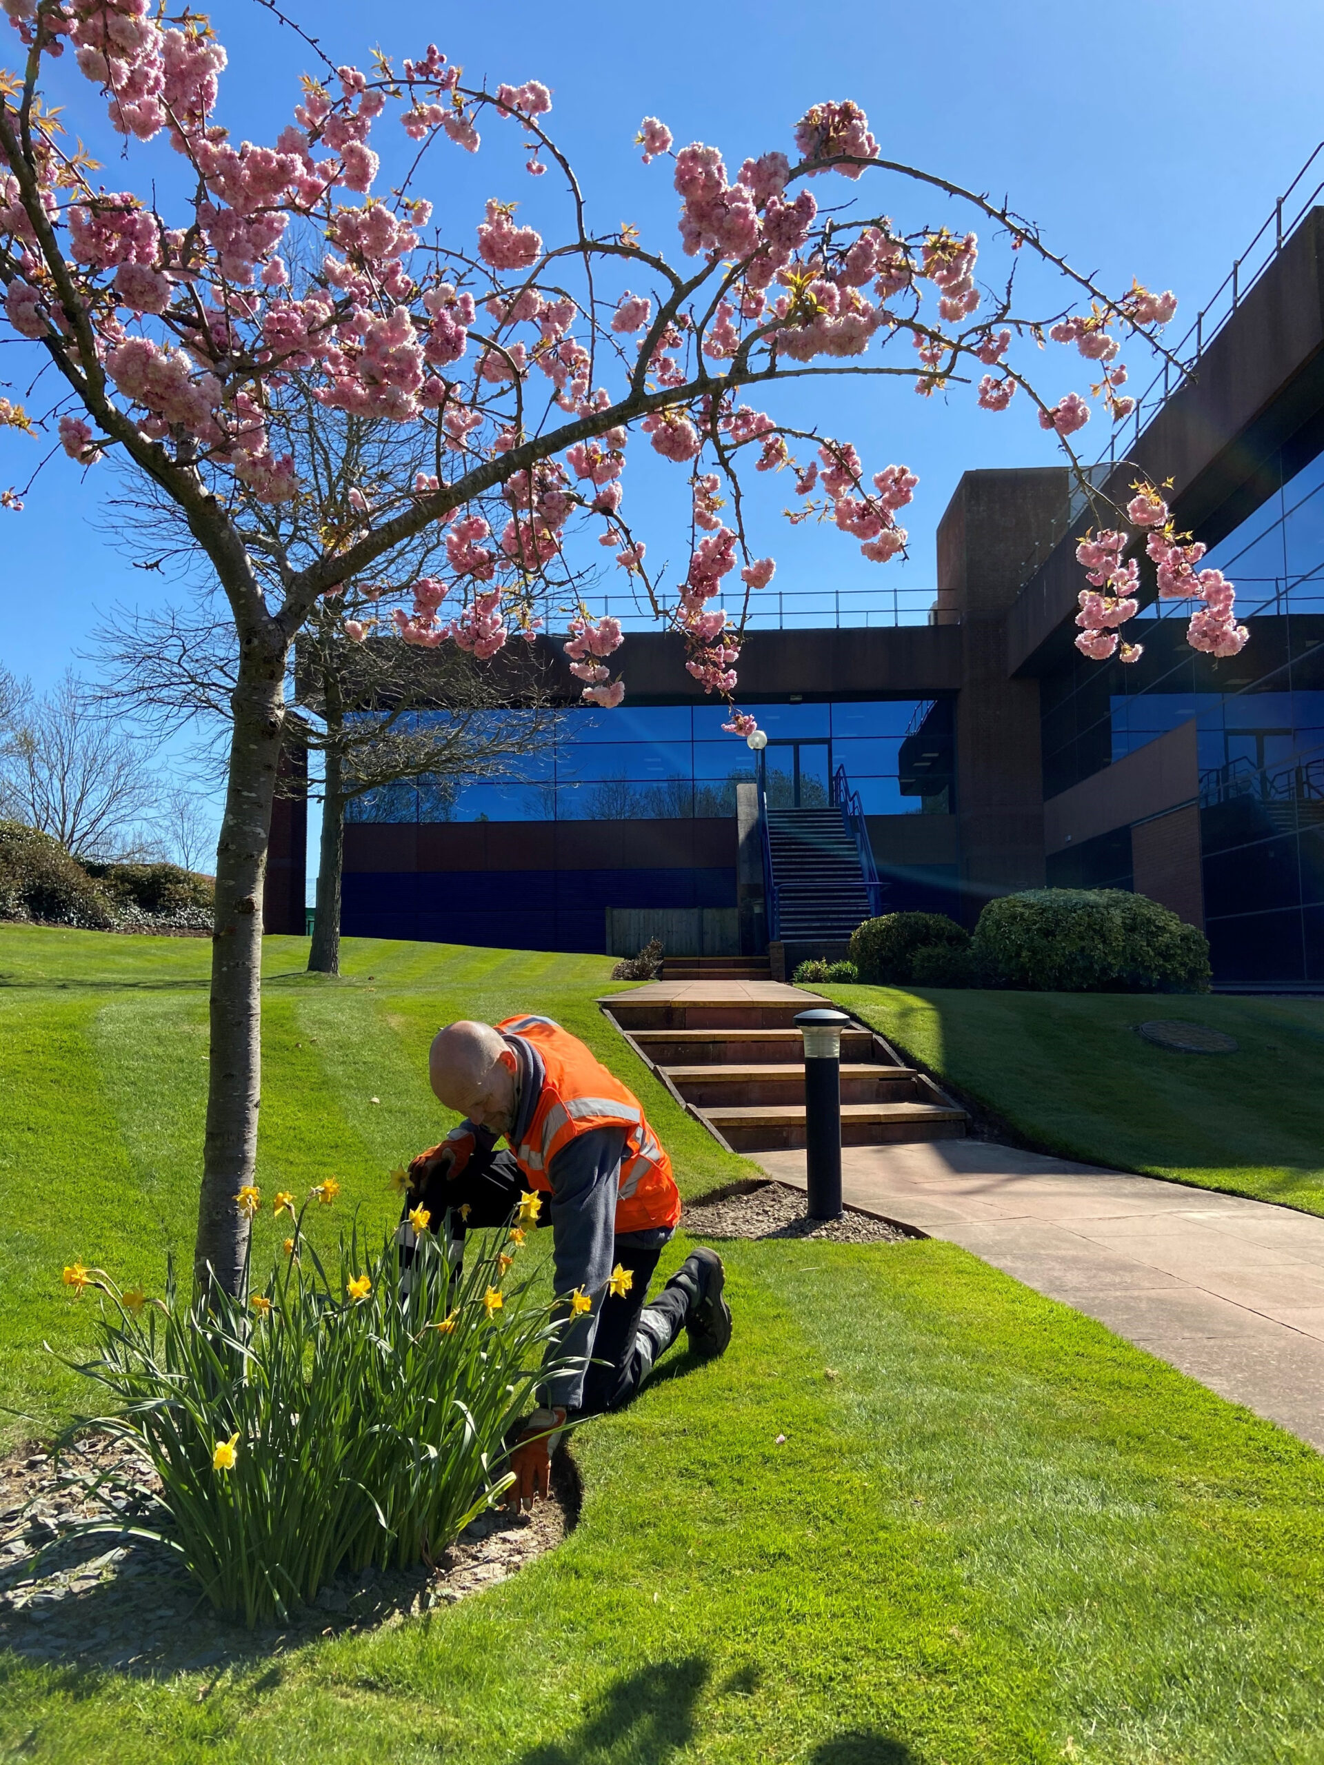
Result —
[[[371,9],[318,0],[300,9],[291,0],[290,11],[316,21],[337,62],[365,62],[374,42],[394,56],[418,53],[431,37],[470,78],[544,79],[554,92],[551,127],[581,171],[591,215],[602,226],[630,219],[669,251],[678,240],[667,168],[641,166],[632,146],[644,113],[662,116],[678,145],[710,141],[727,164],[740,164],[747,154],[789,146],[791,125],[814,101],[854,97],[884,154],[1006,192],[1056,247],[1107,284],[1126,286],[1135,274],[1153,288],[1174,288],[1183,300],[1174,334],[1324,136],[1317,99],[1324,9],[1315,0],[1253,7],[1149,0],[1126,9],[1075,0],[943,7],[876,0],[840,12],[791,0],[727,0],[697,14],[602,0],[560,14],[526,0],[468,9],[411,0],[378,0]],[[224,0],[212,18],[229,49],[222,120],[238,136],[272,139],[311,55],[251,0]],[[106,184],[141,187],[134,169],[141,162],[166,187],[175,155],[134,148],[120,173],[92,88],[67,65],[58,72],[56,95],[69,102],[71,125],[108,161]],[[519,171],[523,155],[512,157],[515,145],[494,125],[475,161],[457,152],[434,161],[420,189],[436,199],[443,226],[454,215],[455,231],[471,237],[487,194],[517,196],[530,217],[551,221],[554,191],[544,187],[553,176],[535,189]],[[897,198],[891,212],[904,226],[930,219],[914,199]],[[14,351],[0,357],[0,367],[18,385]],[[1054,395],[1082,378],[1066,357],[1054,372],[1061,378]],[[830,397],[835,432],[856,439],[870,468],[895,459],[920,473],[907,510],[911,560],[860,565],[844,537],[798,530],[789,544],[786,528],[768,521],[759,549],[780,560],[777,586],[849,581],[877,586],[883,597],[890,572],[900,568],[907,586],[930,588],[932,533],[960,473],[1052,457],[1024,408],[990,417],[969,395],[925,404],[844,381],[831,383]],[[0,436],[0,482],[23,482],[34,455],[34,443]],[[632,512],[650,558],[683,552],[680,478],[673,469],[662,485],[639,475]],[[60,459],[39,478],[25,514],[0,515],[7,565],[0,657],[37,685],[87,646],[99,611],[117,600],[147,604],[161,591],[155,577],[131,568],[124,537],[115,542],[108,487],[108,473],[79,484]]]

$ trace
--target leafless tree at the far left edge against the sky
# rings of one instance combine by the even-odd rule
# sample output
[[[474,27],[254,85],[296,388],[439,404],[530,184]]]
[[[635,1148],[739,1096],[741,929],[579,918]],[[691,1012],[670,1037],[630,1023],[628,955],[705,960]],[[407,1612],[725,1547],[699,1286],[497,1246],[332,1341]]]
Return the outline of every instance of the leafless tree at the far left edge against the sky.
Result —
[[[0,777],[14,817],[74,858],[136,851],[139,821],[155,805],[147,745],[104,717],[72,672],[19,704],[0,747]]]

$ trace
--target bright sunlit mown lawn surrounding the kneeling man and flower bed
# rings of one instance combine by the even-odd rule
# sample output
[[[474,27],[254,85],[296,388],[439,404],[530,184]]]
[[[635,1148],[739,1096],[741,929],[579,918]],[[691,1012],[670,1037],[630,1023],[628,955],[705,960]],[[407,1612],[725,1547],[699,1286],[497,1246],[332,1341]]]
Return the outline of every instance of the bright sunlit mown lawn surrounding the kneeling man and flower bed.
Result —
[[[385,1220],[385,1170],[443,1126],[431,1029],[524,1006],[641,1091],[690,1193],[741,1170],[602,1024],[602,958],[350,944],[325,983],[305,948],[268,944],[268,1186],[334,1172]],[[64,1260],[152,1283],[187,1250],[205,957],[0,928],[5,1401],[71,1401],[39,1350],[90,1315]],[[584,1513],[556,1553],[219,1677],[0,1656],[0,1758],[1324,1760],[1315,1453],[953,1246],[724,1255],[731,1352],[673,1357],[579,1433]]]

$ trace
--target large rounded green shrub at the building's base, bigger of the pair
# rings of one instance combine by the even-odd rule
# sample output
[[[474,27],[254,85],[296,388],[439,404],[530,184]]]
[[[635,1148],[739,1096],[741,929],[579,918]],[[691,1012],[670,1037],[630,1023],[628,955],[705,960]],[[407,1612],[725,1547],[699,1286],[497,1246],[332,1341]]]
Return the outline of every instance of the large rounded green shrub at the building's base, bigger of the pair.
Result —
[[[1034,888],[990,900],[974,957],[1031,992],[1207,992],[1209,943],[1169,907],[1116,888]]]

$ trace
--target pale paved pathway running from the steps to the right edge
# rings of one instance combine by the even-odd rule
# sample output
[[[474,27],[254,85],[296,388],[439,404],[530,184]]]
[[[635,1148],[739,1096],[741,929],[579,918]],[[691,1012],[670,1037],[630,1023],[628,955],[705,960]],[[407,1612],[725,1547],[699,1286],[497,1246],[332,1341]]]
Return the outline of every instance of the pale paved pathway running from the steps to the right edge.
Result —
[[[805,1188],[803,1153],[756,1156]],[[842,1191],[1324,1451],[1324,1218],[980,1140],[847,1145]]]

